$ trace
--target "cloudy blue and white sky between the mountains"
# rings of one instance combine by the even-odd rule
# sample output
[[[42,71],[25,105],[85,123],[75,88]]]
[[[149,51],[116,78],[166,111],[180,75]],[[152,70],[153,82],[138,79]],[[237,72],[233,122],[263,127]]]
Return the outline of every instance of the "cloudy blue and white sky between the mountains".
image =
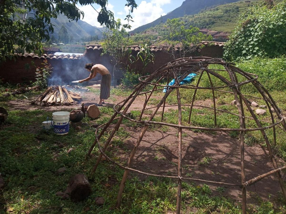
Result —
[[[133,21],[130,25],[131,30],[150,23],[158,19],[161,15],[166,15],[168,12],[180,7],[184,0],[136,0],[138,5],[137,9],[134,9],[131,16]],[[122,23],[126,15],[129,13],[129,9],[126,4],[126,0],[108,0],[107,9],[114,13],[115,19],[121,19]],[[99,11],[100,6],[97,4],[93,5],[94,8]],[[101,27],[100,23],[97,22],[98,13],[90,5],[79,6],[79,9],[84,12],[84,18],[82,21],[89,23],[92,26]]]

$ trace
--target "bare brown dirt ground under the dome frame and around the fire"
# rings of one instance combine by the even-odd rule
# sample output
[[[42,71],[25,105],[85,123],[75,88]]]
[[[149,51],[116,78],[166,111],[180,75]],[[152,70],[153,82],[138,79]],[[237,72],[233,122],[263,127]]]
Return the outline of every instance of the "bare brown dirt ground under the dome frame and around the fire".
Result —
[[[95,104],[99,95],[92,92],[81,92],[83,97],[82,102],[85,105]],[[125,99],[123,96],[112,96],[112,99],[106,101],[104,106],[113,107],[114,104]],[[132,104],[130,110],[140,110],[143,107],[145,96],[140,96],[139,99]],[[38,105],[30,105],[31,100],[16,100],[8,101],[7,105],[10,110],[33,110],[44,109],[45,111],[56,111],[67,108],[80,108],[81,104],[73,106],[49,106],[43,107]],[[210,104],[210,101],[204,101],[204,104]],[[202,104],[200,101],[195,104]],[[151,106],[147,106],[151,107]],[[172,107],[177,108],[177,107]],[[166,108],[166,111],[168,107]],[[141,129],[125,127],[126,131],[131,133],[131,137],[126,140],[125,147],[132,150],[136,140],[141,132]],[[183,130],[184,137],[182,140],[182,165],[183,177],[192,177],[197,179],[219,181],[225,183],[239,184],[240,177],[240,148],[239,140],[232,138],[225,132],[218,132],[217,135],[206,133],[194,133],[190,130]],[[112,149],[112,148],[110,148]],[[130,152],[125,152],[124,149],[119,150],[119,155],[123,160],[127,160]],[[204,158],[209,158],[209,163],[200,164]],[[282,160],[276,157],[278,165],[281,165]],[[147,131],[144,135],[140,146],[136,151],[132,167],[134,169],[147,173],[160,175],[177,175],[178,167],[178,138],[177,129],[170,128],[166,133],[160,130]],[[260,145],[251,147],[245,146],[245,173],[246,180],[249,180],[257,175],[261,175],[273,169],[273,165],[269,159],[268,151]],[[187,174],[188,173],[188,174]],[[141,179],[146,178],[145,175],[138,175]],[[283,175],[283,179],[286,177]],[[200,184],[199,182],[196,182]],[[214,194],[219,194],[215,191],[216,187],[222,185],[210,185]],[[232,199],[241,202],[241,189],[239,187],[223,185],[225,191],[221,193],[224,196],[229,196]],[[248,202],[255,203],[257,195],[264,199],[269,199],[269,194],[272,199],[279,196],[281,192],[276,175],[271,175],[257,182],[255,185],[247,187]]]

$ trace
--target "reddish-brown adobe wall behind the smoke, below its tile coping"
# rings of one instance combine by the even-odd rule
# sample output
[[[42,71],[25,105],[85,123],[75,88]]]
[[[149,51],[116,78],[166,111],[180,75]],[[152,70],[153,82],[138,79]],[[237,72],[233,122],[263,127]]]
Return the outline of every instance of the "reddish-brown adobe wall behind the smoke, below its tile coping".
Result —
[[[155,55],[154,64],[150,63],[146,69],[146,73],[152,73],[162,65],[173,60],[170,54],[164,50],[153,51]],[[135,51],[132,51],[134,56],[137,55]],[[207,57],[219,57],[223,56],[223,46],[213,45],[206,46],[197,52],[186,55],[190,56],[207,56]],[[126,59],[124,59],[126,60]],[[35,64],[32,65],[31,61]],[[37,57],[18,57],[15,60],[7,59],[6,62],[0,64],[0,79],[3,82],[9,83],[23,83],[35,80],[36,67],[41,67],[43,59]],[[48,62],[53,67],[53,73],[51,74],[50,84],[69,84],[71,81],[84,79],[89,76],[89,72],[84,69],[86,63],[102,64],[110,71],[112,75],[113,65],[108,55],[101,56],[100,50],[87,49],[85,55],[81,59],[48,59]],[[25,68],[25,65],[29,64],[29,68]],[[143,63],[138,60],[133,63],[131,69],[142,72]],[[121,71],[115,71],[115,79],[119,82],[122,77]],[[98,75],[93,81],[101,79]]]

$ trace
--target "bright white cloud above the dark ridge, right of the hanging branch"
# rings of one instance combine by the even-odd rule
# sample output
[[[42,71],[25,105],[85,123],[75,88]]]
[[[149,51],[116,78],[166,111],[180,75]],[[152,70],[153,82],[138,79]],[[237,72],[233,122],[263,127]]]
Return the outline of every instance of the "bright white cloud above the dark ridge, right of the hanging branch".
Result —
[[[170,0],[151,0],[150,2],[141,1],[137,9],[134,9],[131,14],[134,21],[130,22],[130,25],[132,26],[131,29],[150,23],[158,19],[161,15],[166,15],[161,6],[168,3],[170,3]],[[125,6],[124,10],[126,14],[129,13],[127,6]]]

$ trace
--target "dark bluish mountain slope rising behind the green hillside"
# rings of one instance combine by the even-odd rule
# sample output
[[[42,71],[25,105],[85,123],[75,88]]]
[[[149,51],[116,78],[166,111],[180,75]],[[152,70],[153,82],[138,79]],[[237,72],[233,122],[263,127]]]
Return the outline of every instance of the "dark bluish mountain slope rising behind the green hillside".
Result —
[[[238,0],[186,0],[182,3],[182,5],[168,14],[148,23],[146,25],[142,25],[137,27],[136,29],[130,31],[130,33],[139,33],[144,31],[150,27],[154,27],[160,23],[164,23],[167,19],[173,19],[182,17],[184,15],[192,15],[199,13],[201,10],[206,10],[208,7],[212,7],[215,5],[222,5],[226,3],[236,2]]]

